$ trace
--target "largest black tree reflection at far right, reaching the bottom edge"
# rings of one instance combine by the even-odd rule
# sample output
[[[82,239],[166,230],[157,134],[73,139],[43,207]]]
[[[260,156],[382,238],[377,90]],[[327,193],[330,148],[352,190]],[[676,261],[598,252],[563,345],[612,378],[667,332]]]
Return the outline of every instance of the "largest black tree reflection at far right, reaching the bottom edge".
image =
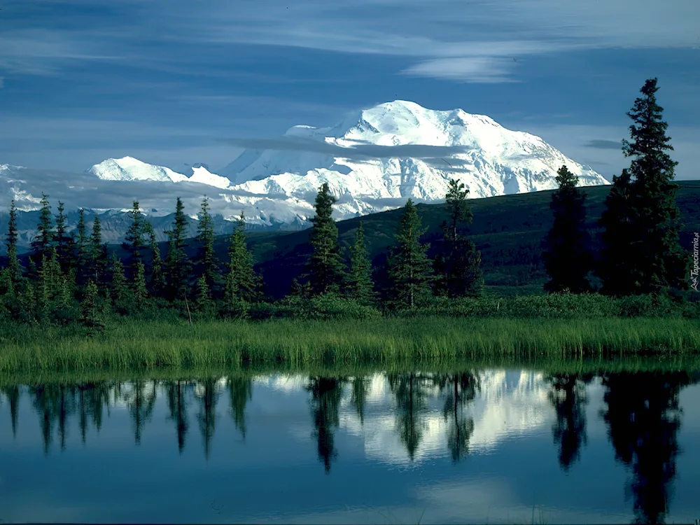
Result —
[[[664,523],[679,453],[678,394],[690,384],[685,372],[624,372],[603,378],[603,419],[615,458],[631,469],[627,489],[637,523]]]

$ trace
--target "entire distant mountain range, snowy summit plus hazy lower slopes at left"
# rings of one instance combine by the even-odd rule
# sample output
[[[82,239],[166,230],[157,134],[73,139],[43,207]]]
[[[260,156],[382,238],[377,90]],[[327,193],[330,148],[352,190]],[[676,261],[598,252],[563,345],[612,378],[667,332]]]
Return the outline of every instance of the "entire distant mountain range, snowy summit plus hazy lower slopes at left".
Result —
[[[109,211],[106,240],[120,241],[134,199],[157,231],[161,222],[163,231],[168,228],[176,197],[195,218],[203,195],[221,215],[221,232],[241,211],[253,228],[299,230],[314,215],[322,183],[338,198],[337,219],[395,209],[408,198],[440,202],[452,178],[465,183],[472,198],[556,188],[561,165],[581,186],[610,184],[539,137],[461,109],[433,111],[400,100],[357,111],[332,127],[294,126],[279,139],[240,143],[251,147],[219,174],[195,164],[186,176],[131,157],[104,160],[81,174],[0,165],[0,210],[11,199],[22,211],[36,210],[47,193],[54,208],[62,200],[70,211]],[[28,214],[22,224],[20,239],[27,244],[36,221]]]

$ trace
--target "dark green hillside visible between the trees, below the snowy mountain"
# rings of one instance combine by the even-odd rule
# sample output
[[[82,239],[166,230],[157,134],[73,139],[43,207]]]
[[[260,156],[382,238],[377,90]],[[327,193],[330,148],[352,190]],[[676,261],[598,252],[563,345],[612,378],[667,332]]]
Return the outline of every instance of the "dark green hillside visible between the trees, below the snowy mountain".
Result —
[[[693,232],[700,231],[700,181],[678,181],[678,184],[676,202],[685,224],[681,242],[689,249]],[[587,194],[587,225],[597,251],[600,229],[596,221],[603,212],[610,186],[589,186],[582,190]],[[503,295],[541,292],[546,274],[540,260],[540,246],[552,225],[551,194],[552,190],[548,190],[470,200],[474,213],[470,235],[482,252],[487,289]],[[423,226],[428,228],[423,241],[430,242],[429,253],[435,255],[442,237],[444,204],[419,204],[418,210]],[[393,244],[400,214],[401,210],[393,210],[340,221],[337,225],[341,245],[352,243],[362,221],[370,254],[377,265]],[[275,297],[288,293],[291,281],[304,271],[310,250],[308,242],[309,230],[248,235],[248,246],[265,277],[268,293]],[[217,239],[216,249],[225,258],[225,237]]]

